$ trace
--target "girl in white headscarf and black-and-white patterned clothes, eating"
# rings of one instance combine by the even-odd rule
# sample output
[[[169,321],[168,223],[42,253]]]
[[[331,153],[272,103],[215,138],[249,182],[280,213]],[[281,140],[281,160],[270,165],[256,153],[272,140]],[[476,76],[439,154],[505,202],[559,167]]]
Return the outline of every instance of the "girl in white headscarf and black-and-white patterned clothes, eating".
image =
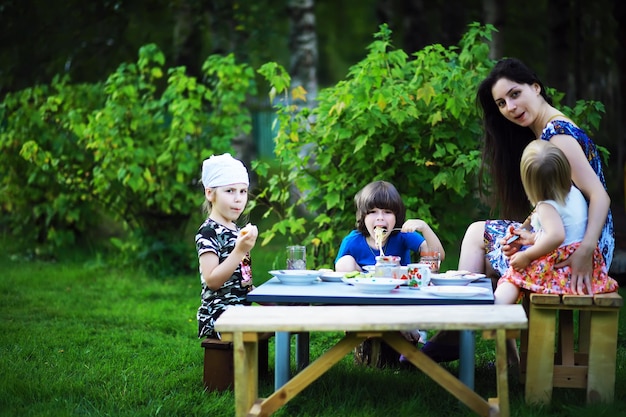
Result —
[[[256,226],[239,228],[248,202],[248,171],[230,154],[213,155],[202,164],[208,218],[196,234],[202,283],[198,337],[220,339],[215,320],[231,305],[247,304],[252,289],[250,250],[259,234]]]

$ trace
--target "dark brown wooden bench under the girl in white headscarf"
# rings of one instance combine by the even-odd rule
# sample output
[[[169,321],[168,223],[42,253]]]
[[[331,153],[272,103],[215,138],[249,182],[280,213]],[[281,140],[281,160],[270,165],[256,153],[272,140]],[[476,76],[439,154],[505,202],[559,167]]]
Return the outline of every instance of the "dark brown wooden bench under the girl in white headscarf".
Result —
[[[259,340],[258,364],[259,377],[269,374],[269,336],[262,335]],[[233,342],[206,338],[200,346],[204,349],[204,371],[202,382],[207,391],[225,391],[234,385]]]

